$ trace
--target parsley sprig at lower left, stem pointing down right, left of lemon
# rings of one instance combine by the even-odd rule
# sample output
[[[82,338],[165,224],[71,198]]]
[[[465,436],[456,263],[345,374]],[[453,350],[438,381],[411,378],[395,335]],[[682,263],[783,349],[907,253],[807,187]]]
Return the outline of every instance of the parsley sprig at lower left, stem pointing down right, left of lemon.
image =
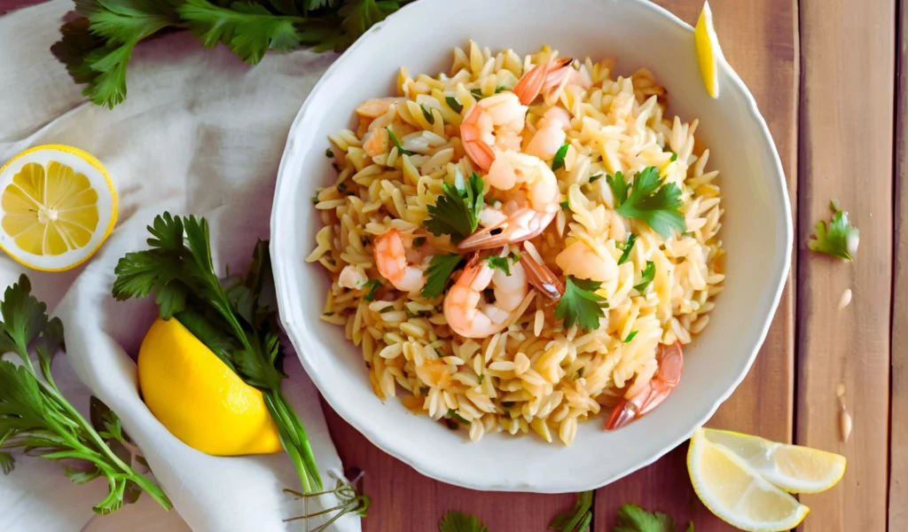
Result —
[[[111,447],[111,442],[127,442],[114,412],[102,409],[103,404],[93,398],[92,413],[94,417],[97,412],[99,426],[95,429],[60,393],[51,364],[57,351],[64,349],[63,323],[58,318],[48,320],[46,305],[31,290],[23,275],[6,289],[0,303],[0,353],[15,353],[21,361],[17,366],[0,360],[0,468],[5,474],[13,471],[15,458],[8,452],[13,449],[52,460],[84,460],[88,468],[67,466],[64,471],[77,484],[107,480],[107,497],[94,506],[96,513],[109,514],[124,502],[134,502],[142,491],[170,509],[173,505],[163,490]],[[37,354],[40,379],[29,349]]]

